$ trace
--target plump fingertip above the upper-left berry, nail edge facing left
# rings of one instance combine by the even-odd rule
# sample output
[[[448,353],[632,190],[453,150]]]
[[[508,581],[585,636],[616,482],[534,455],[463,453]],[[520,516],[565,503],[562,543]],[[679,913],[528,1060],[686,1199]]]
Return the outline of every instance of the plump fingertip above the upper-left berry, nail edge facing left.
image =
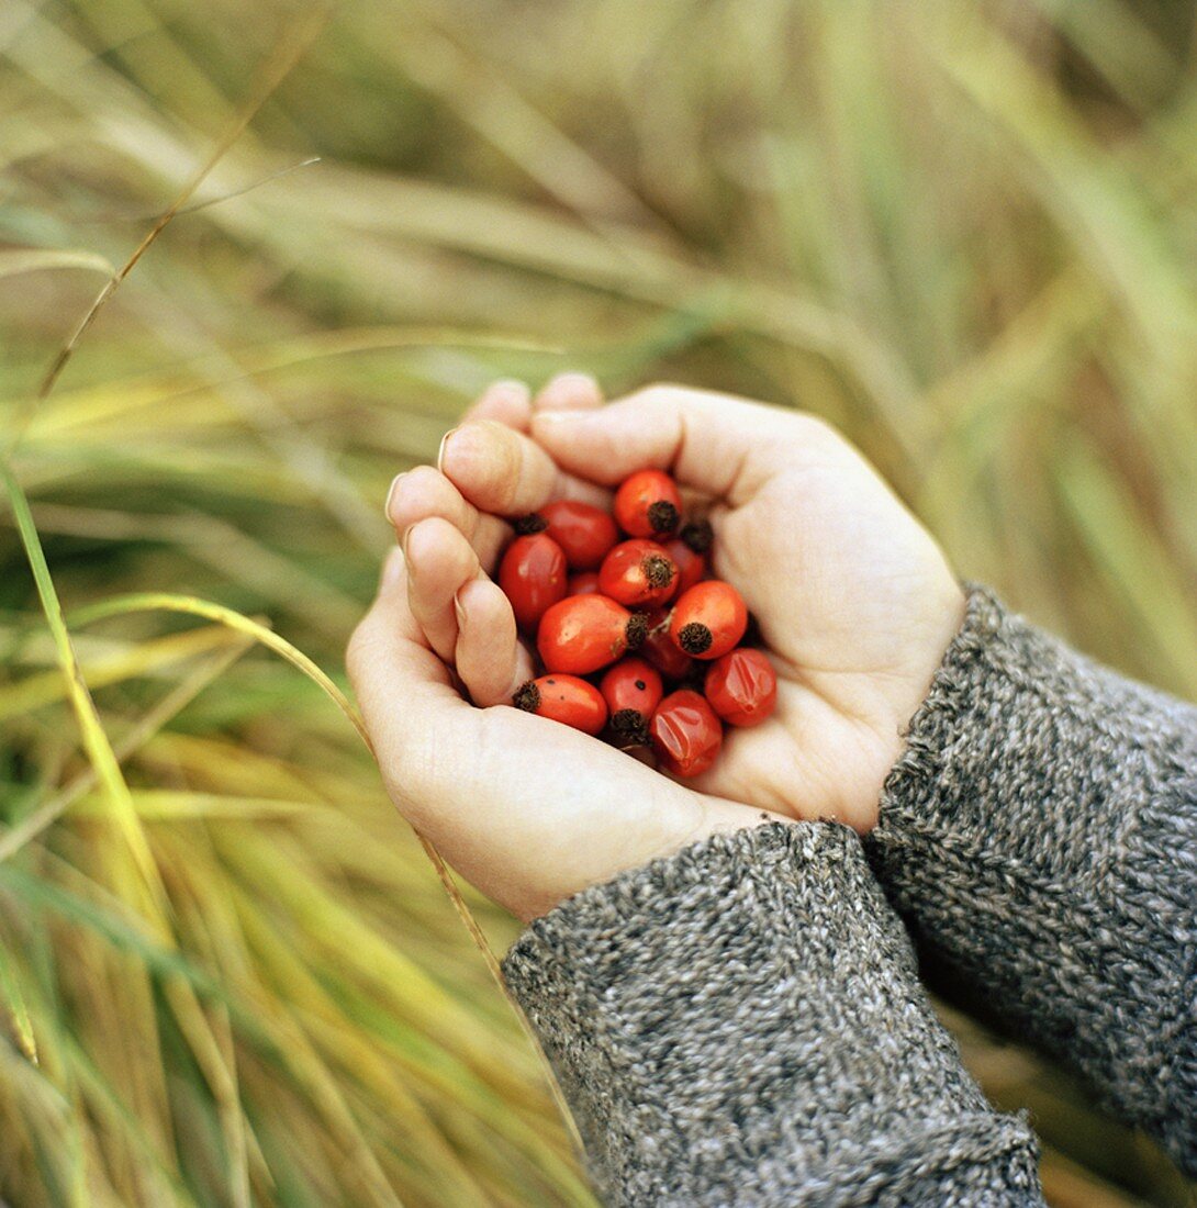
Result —
[[[494,420],[470,420],[441,443],[437,467],[480,511],[523,516],[551,499],[581,499],[605,507],[609,492],[562,474],[533,440]]]

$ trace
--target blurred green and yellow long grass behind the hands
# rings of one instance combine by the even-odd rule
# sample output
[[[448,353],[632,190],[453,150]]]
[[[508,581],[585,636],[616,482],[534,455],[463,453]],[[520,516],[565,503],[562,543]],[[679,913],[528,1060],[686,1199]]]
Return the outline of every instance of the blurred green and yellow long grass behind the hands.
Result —
[[[496,374],[819,412],[961,574],[1197,696],[1197,6],[345,5],[34,405],[308,14],[0,5],[0,436],[128,786],[94,733],[106,790],[89,771],[6,510],[18,1208],[591,1203],[329,698],[210,620],[77,615],[201,597],[344,686],[387,484]],[[1190,1202],[1082,1088],[945,1010],[1030,1109],[1054,1204]]]

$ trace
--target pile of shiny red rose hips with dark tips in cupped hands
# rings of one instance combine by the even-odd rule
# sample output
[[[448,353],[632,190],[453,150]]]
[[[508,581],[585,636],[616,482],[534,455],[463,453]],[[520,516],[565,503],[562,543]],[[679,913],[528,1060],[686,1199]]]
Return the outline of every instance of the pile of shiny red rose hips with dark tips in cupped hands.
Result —
[[[772,714],[777,675],[739,645],[748,609],[731,583],[707,577],[710,525],[681,523],[669,475],[633,474],[612,512],[560,499],[516,522],[499,586],[545,674],[513,703],[605,730],[623,748],[651,745],[674,774],[698,776],[719,755],[724,722]]]

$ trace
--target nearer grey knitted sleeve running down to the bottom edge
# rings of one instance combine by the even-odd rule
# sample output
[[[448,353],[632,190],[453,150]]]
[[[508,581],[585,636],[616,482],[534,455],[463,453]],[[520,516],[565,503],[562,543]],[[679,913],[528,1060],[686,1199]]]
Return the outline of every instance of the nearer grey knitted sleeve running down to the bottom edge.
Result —
[[[716,835],[533,922],[504,974],[611,1206],[1042,1204],[836,824]]]

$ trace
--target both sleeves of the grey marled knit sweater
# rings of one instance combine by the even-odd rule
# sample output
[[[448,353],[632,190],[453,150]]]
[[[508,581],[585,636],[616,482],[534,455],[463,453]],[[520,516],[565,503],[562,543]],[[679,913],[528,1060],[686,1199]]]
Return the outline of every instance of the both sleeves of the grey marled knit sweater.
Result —
[[[887,901],[888,899],[888,901]],[[610,1204],[1041,1204],[914,952],[1197,1173],[1197,709],[970,591],[861,843],[716,836],[504,972]]]

